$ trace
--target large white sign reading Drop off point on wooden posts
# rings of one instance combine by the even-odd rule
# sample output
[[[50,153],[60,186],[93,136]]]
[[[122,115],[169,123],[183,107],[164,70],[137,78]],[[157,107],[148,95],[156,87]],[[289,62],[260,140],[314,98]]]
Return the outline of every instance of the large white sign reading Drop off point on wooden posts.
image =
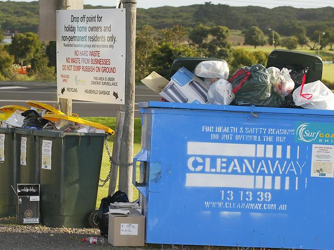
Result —
[[[124,104],[125,9],[57,11],[59,98]]]

